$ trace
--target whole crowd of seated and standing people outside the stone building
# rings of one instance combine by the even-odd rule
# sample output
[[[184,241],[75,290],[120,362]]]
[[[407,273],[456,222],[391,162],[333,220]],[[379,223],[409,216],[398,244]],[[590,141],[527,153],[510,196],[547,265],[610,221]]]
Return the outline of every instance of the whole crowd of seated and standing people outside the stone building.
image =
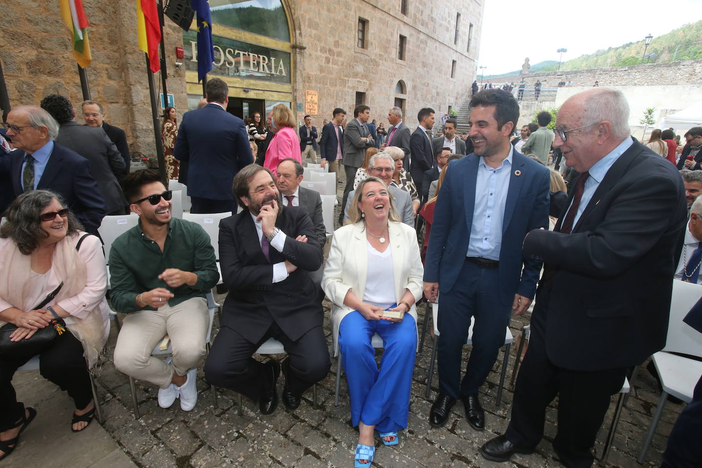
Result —
[[[58,95],[8,114],[0,137],[7,153],[0,156],[0,325],[11,333],[0,334],[0,459],[37,414],[11,384],[34,355],[41,375],[74,400],[72,430],[90,424],[88,369],[105,345],[110,310],[105,258],[91,234],[102,216],[128,209],[138,224],[112,243],[108,262],[110,304],[126,316],[112,358],[122,373],[157,386],[162,408],[197,404],[206,294],[220,272],[228,294],[204,374],[263,414],[279,399],[296,410],[329,372],[326,296],[333,354],[359,429],[355,466],[369,467],[375,432],[394,446],[408,427],[417,305],[441,310],[439,392],[428,422],[443,426],[461,401],[470,427],[483,430],[491,422],[479,389],[510,317],[536,299],[510,423],[480,453],[500,462],[534,451],[557,396],[559,460],[592,464],[611,394],[665,345],[673,277],[702,283],[702,128],[691,128],[680,159],[670,160],[671,135],[637,142],[623,94],[604,87],[566,100],[554,131],[542,112],[516,137],[515,95],[477,91],[468,139],[447,115],[442,135],[433,135],[430,107],[420,109],[414,131],[399,107],[389,109],[387,129],[367,105],[349,119],[337,107],[319,135],[310,116],[297,127],[286,105],[273,107],[264,127],[259,113],[245,123],[226,112],[227,102],[226,83],[211,79],[204,105],[180,125],[168,107],[163,125],[168,174],[187,185],[192,213],[232,212],[219,225],[219,270],[204,229],[173,217],[173,192],[159,173],[128,171],[121,136],[110,136],[97,102],[81,105],[86,126]],[[568,187],[547,166],[552,153],[569,167]],[[322,199],[300,186],[303,161],[317,156],[345,182],[326,262]],[[173,349],[165,361],[151,354],[164,335]],[[270,338],[284,346],[284,361],[253,359]],[[694,450],[671,437],[664,460],[682,466]]]

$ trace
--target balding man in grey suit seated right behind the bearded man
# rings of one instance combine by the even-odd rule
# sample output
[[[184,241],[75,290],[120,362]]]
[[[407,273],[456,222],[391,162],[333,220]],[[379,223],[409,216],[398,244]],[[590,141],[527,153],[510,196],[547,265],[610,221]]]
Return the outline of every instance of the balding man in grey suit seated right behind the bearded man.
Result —
[[[326,227],[324,226],[324,218],[322,218],[322,197],[314,190],[300,187],[300,182],[303,181],[303,165],[296,159],[286,158],[278,163],[276,182],[278,190],[283,199],[284,206],[303,206],[307,208],[307,213],[310,215],[314,232],[319,239],[319,245],[324,249],[326,243]],[[322,273],[324,273],[324,265],[319,267],[314,272],[310,272],[310,279],[317,287],[319,292],[319,302],[324,299],[324,291],[322,291]]]

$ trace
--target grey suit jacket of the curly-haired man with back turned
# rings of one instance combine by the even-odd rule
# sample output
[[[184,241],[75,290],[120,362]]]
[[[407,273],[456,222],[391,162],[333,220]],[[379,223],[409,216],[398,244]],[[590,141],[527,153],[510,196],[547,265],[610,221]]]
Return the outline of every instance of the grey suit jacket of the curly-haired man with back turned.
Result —
[[[90,161],[90,174],[98,182],[107,213],[128,206],[117,177],[124,174],[124,159],[102,128],[77,122],[62,123],[55,142]]]

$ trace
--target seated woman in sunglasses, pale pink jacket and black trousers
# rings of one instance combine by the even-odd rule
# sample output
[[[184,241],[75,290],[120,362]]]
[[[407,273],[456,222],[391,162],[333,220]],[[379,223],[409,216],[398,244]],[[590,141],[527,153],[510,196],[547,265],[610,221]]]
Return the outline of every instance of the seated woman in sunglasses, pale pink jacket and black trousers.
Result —
[[[82,232],[61,197],[48,190],[18,196],[5,215],[0,227],[0,326],[16,328],[0,337],[0,460],[15,449],[20,432],[37,415],[17,401],[15,370],[39,354],[41,375],[73,399],[71,429],[79,432],[95,413],[88,368],[110,331],[100,239]],[[53,340],[35,343],[34,334],[39,333],[37,340],[48,327],[57,331]]]

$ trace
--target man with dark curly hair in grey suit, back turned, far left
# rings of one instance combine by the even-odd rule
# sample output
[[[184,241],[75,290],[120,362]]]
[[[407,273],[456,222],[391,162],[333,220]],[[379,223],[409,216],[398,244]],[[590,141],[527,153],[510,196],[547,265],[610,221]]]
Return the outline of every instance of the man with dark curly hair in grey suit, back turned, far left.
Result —
[[[62,95],[51,94],[41,100],[41,107],[60,125],[59,145],[72,149],[90,161],[90,174],[98,182],[108,215],[124,215],[129,205],[117,178],[124,175],[124,159],[102,127],[76,122],[71,102]]]

